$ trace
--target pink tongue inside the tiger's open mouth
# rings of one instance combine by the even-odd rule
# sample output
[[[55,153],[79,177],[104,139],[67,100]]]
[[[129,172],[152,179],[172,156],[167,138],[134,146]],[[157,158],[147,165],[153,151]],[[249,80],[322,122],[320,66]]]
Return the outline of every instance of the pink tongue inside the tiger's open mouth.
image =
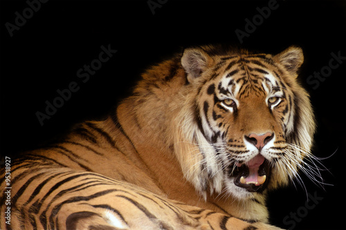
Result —
[[[262,155],[259,154],[253,157],[253,159],[251,159],[247,164],[249,171],[248,176],[246,178],[242,176],[242,178],[240,178],[240,182],[242,184],[255,184],[256,186],[263,184],[266,181],[266,175],[258,175],[258,170],[263,162],[264,157]]]

